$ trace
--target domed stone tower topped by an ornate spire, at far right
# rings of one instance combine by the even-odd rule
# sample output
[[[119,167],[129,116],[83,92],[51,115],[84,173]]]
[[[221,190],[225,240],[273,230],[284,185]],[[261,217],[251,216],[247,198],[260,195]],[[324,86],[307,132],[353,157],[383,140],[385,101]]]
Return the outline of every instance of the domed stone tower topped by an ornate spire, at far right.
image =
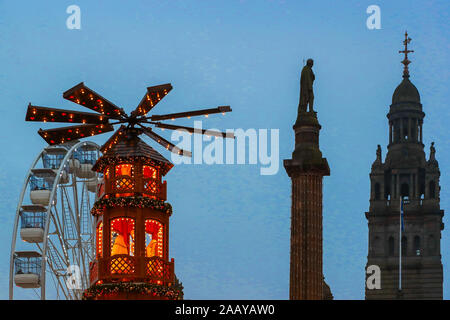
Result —
[[[381,270],[381,289],[369,290],[366,299],[442,299],[443,272],[440,239],[444,211],[439,205],[439,165],[434,144],[427,160],[422,142],[425,117],[420,95],[409,80],[405,34],[403,81],[395,89],[387,118],[389,145],[383,162],[381,147],[370,173],[370,208],[367,266]],[[400,240],[400,197],[404,228]],[[399,290],[399,249],[402,246]]]

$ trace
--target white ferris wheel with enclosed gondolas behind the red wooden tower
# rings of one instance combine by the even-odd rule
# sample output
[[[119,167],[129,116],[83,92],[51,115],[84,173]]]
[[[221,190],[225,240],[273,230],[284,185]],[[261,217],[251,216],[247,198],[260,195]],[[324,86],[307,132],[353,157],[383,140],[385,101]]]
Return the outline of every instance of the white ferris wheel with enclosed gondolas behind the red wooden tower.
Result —
[[[81,299],[89,286],[95,241],[90,209],[102,181],[91,168],[99,149],[74,141],[47,146],[33,161],[14,221],[9,299],[15,290],[34,291],[40,299]]]

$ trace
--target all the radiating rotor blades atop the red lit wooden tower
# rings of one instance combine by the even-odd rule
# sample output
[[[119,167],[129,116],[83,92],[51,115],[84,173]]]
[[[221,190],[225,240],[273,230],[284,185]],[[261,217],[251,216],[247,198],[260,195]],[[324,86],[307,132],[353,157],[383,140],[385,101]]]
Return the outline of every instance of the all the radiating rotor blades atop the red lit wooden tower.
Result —
[[[114,142],[117,142],[118,136],[137,126],[138,130],[135,131],[137,134],[145,133],[147,136],[164,146],[166,149],[180,155],[191,156],[191,152],[179,149],[171,142],[156,134],[150,127],[145,127],[143,124],[153,125],[157,128],[162,129],[181,129],[191,133],[201,133],[210,136],[226,138],[234,137],[231,133],[200,130],[160,122],[161,120],[190,118],[201,115],[205,115],[207,117],[209,114],[213,113],[225,114],[225,112],[231,112],[231,108],[229,106],[221,106],[212,109],[203,109],[165,115],[147,116],[147,113],[150,112],[156,106],[156,104],[169,93],[170,90],[172,90],[172,85],[170,83],[148,87],[147,93],[142,98],[136,110],[134,110],[130,115],[127,115],[122,108],[119,108],[112,102],[106,100],[98,93],[86,87],[83,82],[81,82],[72,89],[64,92],[63,97],[83,107],[97,111],[100,114],[46,108],[29,104],[25,120],[82,124],[78,126],[49,130],[40,129],[38,133],[50,145],[61,144],[75,139],[113,131],[113,125],[115,124],[127,124],[127,126],[120,127],[119,130],[117,130],[114,135],[103,145],[102,152],[105,152],[107,149],[111,148]]]

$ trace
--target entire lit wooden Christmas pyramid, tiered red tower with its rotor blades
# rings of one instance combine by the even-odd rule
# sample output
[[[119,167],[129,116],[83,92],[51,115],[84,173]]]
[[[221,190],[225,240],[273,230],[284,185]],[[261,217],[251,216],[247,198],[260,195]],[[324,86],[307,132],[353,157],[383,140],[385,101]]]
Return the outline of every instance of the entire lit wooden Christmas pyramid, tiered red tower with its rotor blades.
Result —
[[[162,120],[208,116],[231,112],[229,106],[165,115],[147,113],[172,89],[170,84],[148,87],[130,115],[80,83],[63,94],[65,99],[97,113],[28,106],[27,121],[81,123],[42,130],[38,133],[50,145],[119,129],[101,147],[103,156],[92,170],[103,174],[98,200],[91,214],[96,230],[95,258],[90,264],[90,288],[86,299],[181,299],[182,286],[169,260],[169,217],[172,208],[165,202],[166,182],[162,177],[173,167],[140,138],[145,134],[173,153],[191,156],[156,134],[161,129],[185,130],[222,138],[232,133],[162,123]]]

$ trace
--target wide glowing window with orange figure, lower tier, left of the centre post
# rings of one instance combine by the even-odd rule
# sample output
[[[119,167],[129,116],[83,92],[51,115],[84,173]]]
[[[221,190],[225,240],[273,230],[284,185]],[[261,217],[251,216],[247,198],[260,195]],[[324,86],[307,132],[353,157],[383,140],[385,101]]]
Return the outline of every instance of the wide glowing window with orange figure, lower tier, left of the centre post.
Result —
[[[127,254],[134,256],[134,219],[111,220],[111,256]]]

